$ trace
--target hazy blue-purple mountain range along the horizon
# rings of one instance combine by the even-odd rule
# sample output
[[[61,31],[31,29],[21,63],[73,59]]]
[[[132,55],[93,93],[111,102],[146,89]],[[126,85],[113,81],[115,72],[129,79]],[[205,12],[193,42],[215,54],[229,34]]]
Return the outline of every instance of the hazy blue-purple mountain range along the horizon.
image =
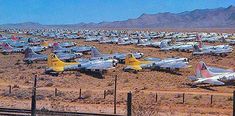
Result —
[[[8,28],[235,28],[235,7],[196,9],[182,13],[142,14],[124,21],[79,23],[70,25],[41,25],[26,22],[4,24]]]

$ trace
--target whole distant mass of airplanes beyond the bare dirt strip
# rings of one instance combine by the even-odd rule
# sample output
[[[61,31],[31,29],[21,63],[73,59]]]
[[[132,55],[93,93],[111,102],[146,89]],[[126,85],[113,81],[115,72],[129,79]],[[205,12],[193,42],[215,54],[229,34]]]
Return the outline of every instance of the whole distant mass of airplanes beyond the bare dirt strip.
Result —
[[[116,43],[118,45],[135,44],[137,46],[151,46],[161,51],[185,51],[193,55],[225,56],[232,52],[230,45],[235,44],[235,36],[227,33],[179,33],[179,32],[149,32],[123,30],[5,30],[7,32],[26,33],[33,36],[48,38],[85,38],[85,41],[99,43]],[[159,39],[163,38],[163,39]],[[193,42],[194,41],[194,42]],[[204,45],[203,42],[222,42],[230,45]]]

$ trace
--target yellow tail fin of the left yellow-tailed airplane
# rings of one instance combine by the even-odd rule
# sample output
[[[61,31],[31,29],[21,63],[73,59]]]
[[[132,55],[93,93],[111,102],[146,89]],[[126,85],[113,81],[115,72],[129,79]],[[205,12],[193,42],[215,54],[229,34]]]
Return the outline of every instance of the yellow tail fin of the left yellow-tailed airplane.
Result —
[[[63,71],[65,63],[61,61],[55,54],[51,53],[48,56],[47,65],[54,71]]]

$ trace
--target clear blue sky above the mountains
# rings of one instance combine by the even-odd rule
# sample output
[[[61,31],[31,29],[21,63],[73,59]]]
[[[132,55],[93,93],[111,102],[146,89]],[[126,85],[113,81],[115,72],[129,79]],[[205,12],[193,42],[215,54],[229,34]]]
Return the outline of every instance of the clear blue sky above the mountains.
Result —
[[[137,18],[143,13],[179,13],[228,7],[235,0],[0,0],[0,24],[74,24]]]

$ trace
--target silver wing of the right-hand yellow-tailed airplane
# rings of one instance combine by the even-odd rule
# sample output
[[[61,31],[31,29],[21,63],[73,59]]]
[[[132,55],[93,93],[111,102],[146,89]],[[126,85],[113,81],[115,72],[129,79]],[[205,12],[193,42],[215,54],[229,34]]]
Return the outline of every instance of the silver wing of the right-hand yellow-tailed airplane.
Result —
[[[186,66],[188,65],[185,62],[170,62],[160,65],[161,68],[171,68],[171,69],[184,68]]]

